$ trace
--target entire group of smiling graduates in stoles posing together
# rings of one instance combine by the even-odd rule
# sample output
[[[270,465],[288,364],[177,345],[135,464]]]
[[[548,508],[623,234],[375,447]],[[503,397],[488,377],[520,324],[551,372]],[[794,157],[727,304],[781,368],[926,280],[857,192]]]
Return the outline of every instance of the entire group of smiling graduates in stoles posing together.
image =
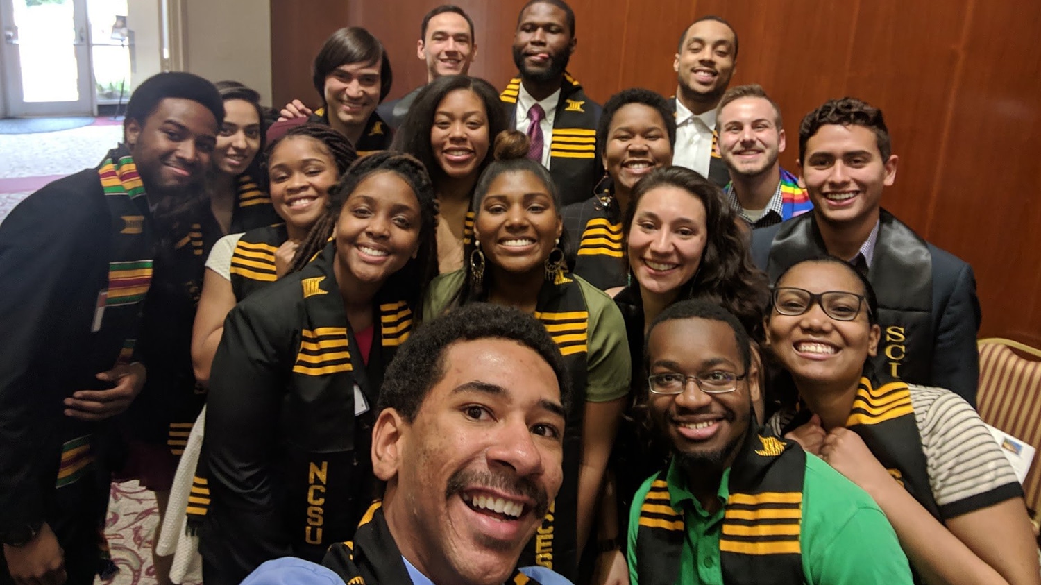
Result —
[[[404,535],[410,514],[452,523],[424,499],[438,490],[491,523],[467,541],[499,552],[489,584],[1041,581],[1021,487],[972,408],[971,269],[880,208],[897,162],[882,112],[807,115],[796,178],[777,104],[728,88],[722,19],[682,32],[675,98],[601,107],[566,71],[575,44],[566,3],[532,0],[500,94],[466,75],[469,18],[439,6],[417,44],[428,83],[380,105],[386,52],[344,28],[313,63],[322,106],[274,124],[239,83],[141,83],[101,166],[0,225],[0,583],[103,573],[113,474],[198,535],[211,585],[321,573],[264,564],[280,557],[350,583],[482,582],[446,573],[452,538],[402,540],[430,539]],[[529,427],[555,458],[501,457],[497,431],[479,458],[515,490],[479,499],[463,486],[483,476],[460,472],[405,495],[415,470],[388,470],[387,437],[472,362],[496,376],[452,392],[505,401],[534,380],[509,352],[449,350],[514,333],[559,374],[536,404],[566,424]],[[466,429],[509,418],[457,410]],[[412,462],[436,472],[465,435]],[[171,503],[175,475],[191,486]],[[358,568],[356,530],[393,570]],[[387,530],[405,565],[372,555]],[[531,566],[559,575],[513,573]]]

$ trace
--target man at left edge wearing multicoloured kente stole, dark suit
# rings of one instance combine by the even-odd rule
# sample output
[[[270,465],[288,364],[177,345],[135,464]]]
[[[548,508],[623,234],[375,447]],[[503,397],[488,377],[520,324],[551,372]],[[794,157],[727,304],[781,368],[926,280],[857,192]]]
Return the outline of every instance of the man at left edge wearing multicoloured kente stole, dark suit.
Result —
[[[2,584],[93,584],[101,569],[111,417],[145,382],[134,340],[154,252],[205,193],[223,121],[209,81],[153,76],[123,144],[0,225]]]

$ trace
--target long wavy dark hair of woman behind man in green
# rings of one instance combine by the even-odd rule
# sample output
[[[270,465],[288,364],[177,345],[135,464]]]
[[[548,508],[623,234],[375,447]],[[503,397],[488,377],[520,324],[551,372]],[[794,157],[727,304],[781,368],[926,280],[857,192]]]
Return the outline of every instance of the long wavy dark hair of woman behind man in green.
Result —
[[[629,230],[640,200],[651,189],[672,186],[689,193],[705,206],[708,237],[693,278],[680,287],[679,299],[711,300],[736,315],[757,342],[762,342],[763,316],[769,302],[766,275],[752,262],[748,234],[727,203],[722,190],[683,167],[655,169],[633,187],[621,233],[629,260]]]

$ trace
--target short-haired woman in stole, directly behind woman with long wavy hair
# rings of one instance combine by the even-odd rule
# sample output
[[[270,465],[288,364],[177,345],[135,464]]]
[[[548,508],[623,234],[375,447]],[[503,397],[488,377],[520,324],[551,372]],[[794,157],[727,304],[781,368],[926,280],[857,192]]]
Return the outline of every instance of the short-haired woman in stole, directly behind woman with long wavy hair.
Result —
[[[603,290],[629,284],[621,219],[636,182],[672,163],[675,142],[676,119],[662,96],[634,87],[607,100],[596,129],[604,163],[598,188],[606,188],[561,212],[575,274]]]

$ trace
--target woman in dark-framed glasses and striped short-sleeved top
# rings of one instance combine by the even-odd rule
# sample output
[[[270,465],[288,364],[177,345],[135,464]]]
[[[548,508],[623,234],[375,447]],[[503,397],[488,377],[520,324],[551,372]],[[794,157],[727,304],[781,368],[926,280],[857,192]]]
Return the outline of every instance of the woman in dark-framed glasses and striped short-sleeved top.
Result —
[[[976,412],[958,395],[874,372],[878,301],[841,259],[779,278],[766,339],[791,375],[768,427],[870,494],[918,582],[1041,583],[1022,488]]]

